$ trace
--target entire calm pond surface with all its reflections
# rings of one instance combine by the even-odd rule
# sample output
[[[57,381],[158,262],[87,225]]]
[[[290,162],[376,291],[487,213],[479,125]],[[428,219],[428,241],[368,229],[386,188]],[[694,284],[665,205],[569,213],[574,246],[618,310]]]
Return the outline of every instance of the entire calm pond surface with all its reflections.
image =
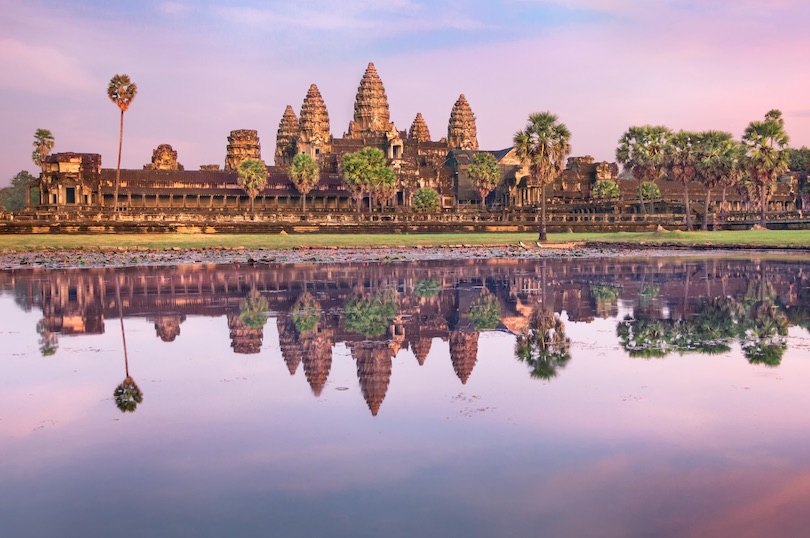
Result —
[[[810,265],[0,272],[4,536],[802,536]]]

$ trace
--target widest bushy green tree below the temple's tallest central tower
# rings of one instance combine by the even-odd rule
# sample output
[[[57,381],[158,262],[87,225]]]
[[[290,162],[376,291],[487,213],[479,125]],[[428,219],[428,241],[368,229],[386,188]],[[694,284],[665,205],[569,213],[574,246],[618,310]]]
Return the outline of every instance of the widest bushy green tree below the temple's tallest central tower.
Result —
[[[343,155],[340,161],[340,175],[352,191],[358,213],[364,195],[369,197],[370,211],[372,195],[390,192],[396,184],[394,171],[388,166],[383,152],[377,148],[363,148]]]

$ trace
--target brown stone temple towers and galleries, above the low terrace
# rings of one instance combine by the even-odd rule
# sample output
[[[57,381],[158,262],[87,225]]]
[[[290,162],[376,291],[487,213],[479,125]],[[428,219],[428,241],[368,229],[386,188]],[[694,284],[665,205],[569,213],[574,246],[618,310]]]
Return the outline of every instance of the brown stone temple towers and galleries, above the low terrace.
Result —
[[[278,123],[273,164],[268,163],[267,185],[255,200],[257,212],[296,211],[301,194],[289,179],[289,166],[298,153],[306,153],[320,167],[320,181],[307,194],[307,209],[313,212],[354,209],[352,192],[339,174],[343,155],[365,147],[382,150],[397,178],[396,189],[386,203],[407,208],[422,187],[435,189],[445,210],[481,203],[466,168],[478,147],[476,117],[462,94],[450,108],[447,136],[431,138],[431,131],[417,112],[408,130],[392,121],[388,96],[373,63],[369,63],[357,88],[354,114],[340,138],[332,134],[326,100],[312,84],[296,116],[287,105]],[[512,148],[490,151],[501,169],[500,185],[487,197],[490,206],[509,208],[536,204],[539,189],[527,182]],[[121,170],[119,209],[133,214],[155,211],[181,214],[244,210],[249,202],[237,182],[237,168],[244,159],[262,159],[259,133],[251,129],[231,131],[227,137],[224,166],[202,165],[187,170],[178,163],[177,151],[159,145],[142,170]],[[553,189],[555,196],[583,197],[598,179],[617,175],[615,165],[575,158]],[[97,154],[48,155],[42,174],[32,187],[40,189],[41,207],[48,210],[92,210],[114,205],[115,169],[101,168]]]

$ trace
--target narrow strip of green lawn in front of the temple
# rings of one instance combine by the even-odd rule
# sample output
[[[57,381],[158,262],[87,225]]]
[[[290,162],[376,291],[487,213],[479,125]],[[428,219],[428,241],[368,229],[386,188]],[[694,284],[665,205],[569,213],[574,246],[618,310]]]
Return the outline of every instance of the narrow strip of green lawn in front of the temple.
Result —
[[[286,249],[294,247],[409,247],[446,245],[514,245],[533,243],[537,234],[463,233],[463,234],[99,234],[99,235],[0,235],[0,250],[35,251],[82,248],[115,249],[141,247],[171,248],[248,248]],[[549,234],[550,243],[567,242],[656,243],[695,246],[804,247],[810,248],[807,230],[749,230],[719,232],[650,233],[560,233]]]

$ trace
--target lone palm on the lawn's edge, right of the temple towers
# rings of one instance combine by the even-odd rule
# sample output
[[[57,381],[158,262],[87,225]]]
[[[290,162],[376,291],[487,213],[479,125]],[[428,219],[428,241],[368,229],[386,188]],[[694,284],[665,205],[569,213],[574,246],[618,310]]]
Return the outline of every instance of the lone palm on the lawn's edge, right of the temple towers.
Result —
[[[528,165],[532,184],[541,190],[540,241],[547,240],[546,185],[562,173],[571,153],[571,131],[558,120],[551,112],[531,114],[526,128],[514,136],[517,156],[524,166]]]

